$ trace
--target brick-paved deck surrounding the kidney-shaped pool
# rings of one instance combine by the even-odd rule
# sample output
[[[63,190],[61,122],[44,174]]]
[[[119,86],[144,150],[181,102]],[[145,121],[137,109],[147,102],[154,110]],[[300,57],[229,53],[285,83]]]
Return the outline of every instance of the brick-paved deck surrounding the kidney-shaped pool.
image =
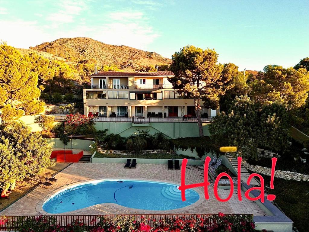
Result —
[[[55,215],[46,213],[42,205],[51,195],[57,191],[70,187],[76,183],[87,182],[98,179],[148,179],[154,181],[167,181],[180,184],[180,170],[169,170],[167,165],[163,164],[139,164],[136,169],[124,169],[123,164],[114,163],[73,163],[66,169],[59,172],[55,178],[58,179],[52,187],[47,189],[37,187],[29,192],[23,198],[13,203],[8,208],[1,211],[1,215],[19,216],[19,215]],[[237,188],[234,188],[232,198],[227,202],[219,202],[214,197],[214,182],[208,178],[209,200],[204,198],[203,187],[198,187],[200,200],[195,204],[169,211],[150,211],[122,207],[116,204],[97,204],[87,208],[74,210],[57,215],[103,215],[103,214],[155,214],[155,213],[182,213],[182,214],[216,214],[218,212],[226,214],[253,214],[254,216],[267,215],[253,201],[244,197],[239,201],[237,198]],[[186,184],[201,183],[204,181],[204,169],[202,166],[187,166]],[[219,196],[226,198],[230,190],[218,189]]]

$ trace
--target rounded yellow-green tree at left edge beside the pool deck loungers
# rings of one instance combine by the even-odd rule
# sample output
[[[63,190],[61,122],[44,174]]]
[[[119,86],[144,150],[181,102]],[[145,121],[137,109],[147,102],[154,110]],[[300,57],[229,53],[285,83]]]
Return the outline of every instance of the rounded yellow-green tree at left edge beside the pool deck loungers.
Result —
[[[0,126],[0,187],[14,180],[22,180],[27,174],[38,174],[51,161],[51,148],[42,136],[31,132],[21,122]]]

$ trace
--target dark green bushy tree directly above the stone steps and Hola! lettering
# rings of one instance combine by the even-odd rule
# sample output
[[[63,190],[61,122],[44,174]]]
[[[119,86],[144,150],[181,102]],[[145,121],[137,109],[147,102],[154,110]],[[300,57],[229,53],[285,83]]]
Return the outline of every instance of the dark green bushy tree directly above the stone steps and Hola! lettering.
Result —
[[[214,118],[209,132],[216,147],[237,146],[248,157],[256,153],[257,146],[283,151],[289,128],[289,116],[283,104],[261,105],[248,96],[237,96],[227,113]]]

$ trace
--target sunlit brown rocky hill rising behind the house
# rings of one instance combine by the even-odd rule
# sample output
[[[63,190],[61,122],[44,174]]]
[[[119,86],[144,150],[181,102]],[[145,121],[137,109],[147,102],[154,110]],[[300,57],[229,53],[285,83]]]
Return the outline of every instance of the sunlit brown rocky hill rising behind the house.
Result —
[[[67,62],[80,62],[95,59],[99,65],[116,65],[126,71],[138,70],[141,67],[170,64],[171,59],[164,58],[155,52],[140,49],[104,44],[91,38],[61,38],[53,42],[44,42],[30,50],[52,54],[55,58]]]

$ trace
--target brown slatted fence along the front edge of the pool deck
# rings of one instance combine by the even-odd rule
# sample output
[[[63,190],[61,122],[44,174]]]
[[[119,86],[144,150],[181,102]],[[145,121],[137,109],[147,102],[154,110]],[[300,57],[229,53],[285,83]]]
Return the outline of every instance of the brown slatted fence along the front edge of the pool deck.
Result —
[[[226,214],[229,216],[228,214]],[[41,216],[46,219],[46,223],[51,223],[55,220],[56,226],[66,229],[68,224],[72,224],[73,221],[79,220],[82,221],[86,226],[96,226],[100,222],[100,218],[104,217],[105,219],[113,219],[116,215],[55,215],[55,216]],[[184,217],[185,220],[189,218],[196,218],[197,216],[205,220],[205,226],[210,226],[214,219],[218,221],[217,214],[122,214],[117,215],[125,219],[130,219],[134,217],[135,221],[142,221],[145,217],[151,217],[155,219],[156,222],[164,218],[173,218]],[[230,216],[235,217],[235,221],[252,221],[252,214],[231,214]],[[0,223],[0,230],[14,230],[18,227],[18,223],[23,223],[27,219],[36,220],[39,216],[0,216],[0,221],[3,221],[4,224]],[[155,226],[153,220],[149,220],[148,224],[151,227]]]

